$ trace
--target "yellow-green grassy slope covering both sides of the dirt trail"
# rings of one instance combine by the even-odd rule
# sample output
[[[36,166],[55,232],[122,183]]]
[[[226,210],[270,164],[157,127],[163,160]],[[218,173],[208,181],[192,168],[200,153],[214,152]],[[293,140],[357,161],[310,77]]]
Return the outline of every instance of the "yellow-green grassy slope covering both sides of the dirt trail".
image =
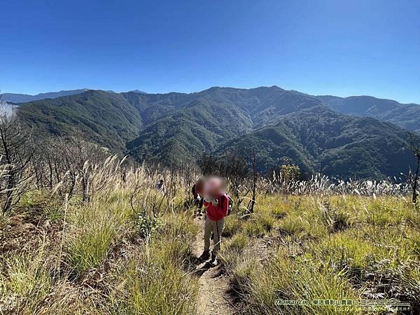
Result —
[[[189,270],[197,226],[183,211],[186,195],[162,211],[147,243],[129,196],[130,190],[114,188],[89,204],[74,200],[66,207],[31,194],[21,202],[30,213],[2,217],[1,309],[193,314],[197,279]],[[236,209],[226,219],[221,258],[243,303],[237,309],[367,314],[275,301],[378,297],[398,297],[419,309],[419,211],[402,197],[258,195],[257,202],[251,216]]]

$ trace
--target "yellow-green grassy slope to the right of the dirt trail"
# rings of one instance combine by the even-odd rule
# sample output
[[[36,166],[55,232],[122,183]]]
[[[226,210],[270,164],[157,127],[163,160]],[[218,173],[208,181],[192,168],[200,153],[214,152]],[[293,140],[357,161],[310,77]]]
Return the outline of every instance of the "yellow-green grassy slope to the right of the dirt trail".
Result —
[[[398,298],[420,310],[419,210],[401,197],[260,195],[223,246],[246,314],[367,314],[283,300]],[[383,288],[384,283],[386,287]],[[379,314],[379,310],[369,314]]]

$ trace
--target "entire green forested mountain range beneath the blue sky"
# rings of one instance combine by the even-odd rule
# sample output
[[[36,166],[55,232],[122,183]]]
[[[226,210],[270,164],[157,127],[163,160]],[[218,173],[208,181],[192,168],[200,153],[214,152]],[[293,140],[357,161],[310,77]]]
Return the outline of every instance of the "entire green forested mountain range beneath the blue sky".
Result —
[[[20,104],[18,114],[37,137],[80,130],[88,141],[139,160],[173,164],[204,151],[223,158],[253,147],[261,172],[288,158],[307,173],[379,179],[414,165],[403,143],[408,130],[419,130],[419,109],[272,86],[189,94],[85,90]]]

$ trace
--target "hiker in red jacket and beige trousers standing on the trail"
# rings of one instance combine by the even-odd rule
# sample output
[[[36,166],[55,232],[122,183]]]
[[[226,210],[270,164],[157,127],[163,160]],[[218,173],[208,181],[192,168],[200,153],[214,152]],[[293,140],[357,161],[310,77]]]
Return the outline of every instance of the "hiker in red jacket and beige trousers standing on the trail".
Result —
[[[204,251],[201,260],[211,258],[210,264],[218,265],[217,253],[221,248],[221,235],[225,227],[225,216],[230,209],[230,197],[225,193],[225,181],[218,177],[211,177],[204,183],[204,207],[207,207],[204,223]],[[213,251],[210,255],[211,232],[214,233]]]

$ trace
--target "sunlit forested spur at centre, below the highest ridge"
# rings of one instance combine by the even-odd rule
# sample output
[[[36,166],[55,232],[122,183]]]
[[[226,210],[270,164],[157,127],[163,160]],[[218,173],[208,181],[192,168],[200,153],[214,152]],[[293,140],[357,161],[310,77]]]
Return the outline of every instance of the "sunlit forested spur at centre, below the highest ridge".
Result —
[[[225,139],[251,128],[251,118],[233,104],[196,99],[146,126],[127,148],[133,155],[147,160],[197,160],[202,151],[213,151]]]

